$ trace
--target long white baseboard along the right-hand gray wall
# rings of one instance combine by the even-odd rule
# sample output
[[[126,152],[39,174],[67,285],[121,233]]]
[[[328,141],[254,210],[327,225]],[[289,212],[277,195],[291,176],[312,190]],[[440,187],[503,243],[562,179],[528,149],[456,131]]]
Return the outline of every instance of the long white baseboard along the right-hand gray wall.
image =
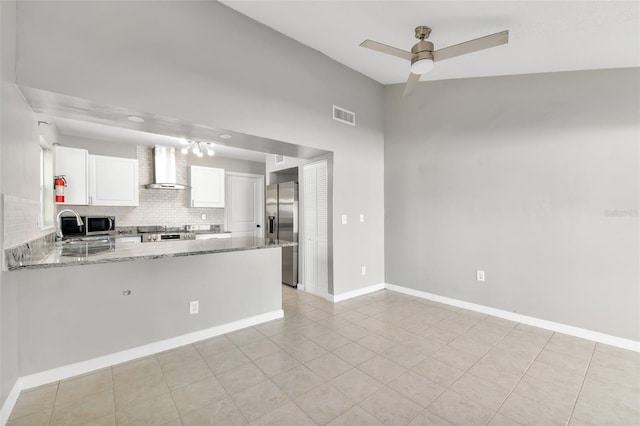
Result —
[[[625,339],[623,337],[612,336],[610,334],[600,333],[598,331],[587,330],[585,328],[574,327],[571,325],[561,324],[558,322],[547,321],[540,318],[530,317],[527,315],[516,314],[514,312],[503,311],[501,309],[491,308],[489,306],[477,305],[463,300],[452,299],[449,297],[438,296],[437,294],[427,293],[426,291],[414,290],[408,287],[402,287],[394,284],[385,284],[385,288],[398,293],[408,294],[410,296],[419,297],[421,299],[432,300],[434,302],[444,303],[459,308],[468,309],[470,311],[481,312],[494,317],[504,318],[511,321],[521,322],[523,324],[532,325],[534,327],[544,328],[546,330],[557,331],[559,333],[569,334],[575,337],[581,337],[595,342],[605,343],[607,345],[616,346],[622,349],[628,349],[640,352],[640,342]]]

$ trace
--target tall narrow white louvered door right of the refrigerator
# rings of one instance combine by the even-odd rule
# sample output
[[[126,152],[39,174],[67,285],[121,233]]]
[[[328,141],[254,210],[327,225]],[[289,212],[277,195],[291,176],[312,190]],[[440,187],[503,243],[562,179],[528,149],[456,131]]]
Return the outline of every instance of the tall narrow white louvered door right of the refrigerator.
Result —
[[[304,178],[304,288],[329,293],[327,162],[306,164]]]

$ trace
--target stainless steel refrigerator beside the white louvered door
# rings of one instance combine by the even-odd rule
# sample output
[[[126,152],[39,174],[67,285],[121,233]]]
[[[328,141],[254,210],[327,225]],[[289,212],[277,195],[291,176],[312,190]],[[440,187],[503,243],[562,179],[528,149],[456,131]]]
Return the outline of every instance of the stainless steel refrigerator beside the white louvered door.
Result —
[[[267,238],[298,242],[298,184],[267,186]],[[298,246],[282,247],[282,282],[298,286]]]

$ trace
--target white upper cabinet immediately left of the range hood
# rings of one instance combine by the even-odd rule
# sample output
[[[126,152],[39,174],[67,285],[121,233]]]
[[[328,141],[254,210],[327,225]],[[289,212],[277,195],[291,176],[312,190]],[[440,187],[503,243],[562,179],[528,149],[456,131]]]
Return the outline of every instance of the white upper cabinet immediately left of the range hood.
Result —
[[[89,155],[89,204],[138,205],[138,160]]]

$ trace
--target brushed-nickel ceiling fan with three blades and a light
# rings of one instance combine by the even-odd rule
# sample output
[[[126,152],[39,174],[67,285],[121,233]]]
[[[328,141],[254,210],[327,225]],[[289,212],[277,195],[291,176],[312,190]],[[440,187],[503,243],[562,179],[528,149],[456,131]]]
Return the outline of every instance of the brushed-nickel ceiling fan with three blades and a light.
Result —
[[[411,48],[411,52],[373,40],[365,40],[360,43],[360,46],[411,61],[411,73],[409,74],[404,92],[402,92],[402,96],[404,97],[413,92],[422,74],[433,69],[434,62],[444,61],[454,56],[466,55],[467,53],[500,46],[501,44],[509,42],[509,31],[501,31],[439,50],[433,50],[433,43],[425,40],[429,38],[429,34],[431,34],[431,28],[423,25],[416,27],[416,38],[420,41]]]

